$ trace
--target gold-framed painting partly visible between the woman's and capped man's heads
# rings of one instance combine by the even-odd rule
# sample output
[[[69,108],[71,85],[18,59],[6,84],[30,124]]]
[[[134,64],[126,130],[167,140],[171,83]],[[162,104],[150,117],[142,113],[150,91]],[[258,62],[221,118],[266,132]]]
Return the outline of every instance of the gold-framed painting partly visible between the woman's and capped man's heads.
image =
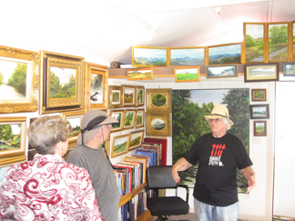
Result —
[[[76,146],[76,139],[81,130],[81,119],[84,115],[84,111],[71,111],[61,114],[66,119],[68,124],[68,147],[72,148]]]

